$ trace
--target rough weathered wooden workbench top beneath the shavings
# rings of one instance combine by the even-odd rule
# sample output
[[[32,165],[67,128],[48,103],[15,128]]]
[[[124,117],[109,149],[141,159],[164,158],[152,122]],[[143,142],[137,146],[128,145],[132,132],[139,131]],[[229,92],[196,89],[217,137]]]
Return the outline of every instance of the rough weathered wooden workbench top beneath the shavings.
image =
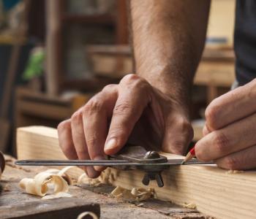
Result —
[[[1,175],[0,181],[2,187],[0,194],[0,218],[4,216],[6,218],[4,212],[10,211],[10,209],[15,214],[15,210],[18,209],[19,205],[23,207],[23,213],[26,214],[26,206],[29,206],[30,203],[38,202],[41,204],[47,201],[52,203],[51,207],[59,203],[58,199],[40,200],[40,197],[24,193],[18,187],[18,183],[22,178],[34,177],[35,174],[42,172],[46,167],[20,167],[15,166],[14,158],[5,156],[5,159],[6,168]],[[72,198],[61,199],[83,199],[87,202],[99,204],[100,218],[210,218],[197,212],[197,210],[180,207],[168,201],[149,199],[137,205],[128,203],[110,197],[111,191],[113,191],[113,186],[111,185],[100,185],[97,187],[86,184],[70,185],[69,193],[72,194]],[[33,209],[33,212],[36,214],[39,208],[40,206],[37,206],[37,208]],[[31,214],[31,212],[29,213]],[[12,215],[9,215],[9,218],[12,218]],[[48,218],[52,217],[48,215]],[[65,215],[60,215],[59,218],[65,218]]]

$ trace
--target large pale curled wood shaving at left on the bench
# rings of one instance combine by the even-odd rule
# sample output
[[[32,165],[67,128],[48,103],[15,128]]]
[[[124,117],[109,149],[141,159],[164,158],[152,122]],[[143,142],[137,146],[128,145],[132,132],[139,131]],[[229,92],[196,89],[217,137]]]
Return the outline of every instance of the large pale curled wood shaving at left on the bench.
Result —
[[[69,167],[69,166],[67,166]],[[60,197],[70,197],[71,195],[67,193],[69,186],[66,180],[62,177],[67,171],[67,168],[61,169],[60,171],[56,169],[48,169],[45,172],[40,172],[33,179],[24,178],[20,180],[20,188],[25,190],[26,193],[33,194],[35,196],[45,196],[43,199],[55,199]],[[49,188],[53,191],[51,195],[47,195]]]

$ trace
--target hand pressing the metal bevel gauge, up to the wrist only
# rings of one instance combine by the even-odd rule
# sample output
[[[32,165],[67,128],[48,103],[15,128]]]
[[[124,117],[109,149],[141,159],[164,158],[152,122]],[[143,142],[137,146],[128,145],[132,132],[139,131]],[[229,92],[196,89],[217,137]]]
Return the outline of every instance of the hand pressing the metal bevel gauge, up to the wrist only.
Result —
[[[59,144],[69,159],[104,159],[132,144],[184,154],[192,139],[182,104],[135,74],[107,85],[58,126]],[[156,149],[156,146],[157,147]],[[102,166],[84,168],[97,177]]]

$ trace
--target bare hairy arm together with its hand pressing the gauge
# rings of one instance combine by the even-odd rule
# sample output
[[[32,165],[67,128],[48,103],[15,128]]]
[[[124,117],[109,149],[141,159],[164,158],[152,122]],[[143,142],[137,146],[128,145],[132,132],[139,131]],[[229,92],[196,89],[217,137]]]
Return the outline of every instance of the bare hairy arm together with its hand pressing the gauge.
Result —
[[[206,34],[209,1],[134,0],[136,72],[108,85],[58,126],[69,159],[100,160],[129,142],[184,154],[192,139],[189,88]],[[102,167],[86,167],[97,177]]]

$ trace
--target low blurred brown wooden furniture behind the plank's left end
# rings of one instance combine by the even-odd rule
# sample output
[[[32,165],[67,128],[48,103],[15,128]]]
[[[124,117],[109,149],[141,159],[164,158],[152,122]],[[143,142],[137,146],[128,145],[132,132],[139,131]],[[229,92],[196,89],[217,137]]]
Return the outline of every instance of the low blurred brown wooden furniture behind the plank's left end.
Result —
[[[20,126],[33,125],[56,128],[90,97],[91,94],[75,94],[70,98],[55,97],[18,87],[15,91],[15,130]],[[15,150],[15,147],[12,149]]]

